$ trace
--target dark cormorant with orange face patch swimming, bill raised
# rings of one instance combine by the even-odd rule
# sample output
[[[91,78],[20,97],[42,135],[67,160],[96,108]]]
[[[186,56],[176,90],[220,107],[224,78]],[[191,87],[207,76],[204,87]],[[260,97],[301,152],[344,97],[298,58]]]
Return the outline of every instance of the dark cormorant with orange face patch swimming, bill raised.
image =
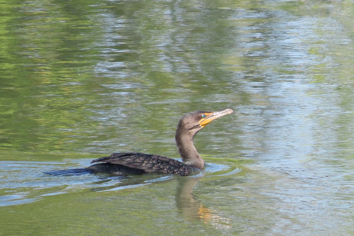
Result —
[[[222,111],[192,111],[185,114],[178,122],[176,144],[182,162],[165,156],[143,154],[139,152],[119,152],[93,160],[96,163],[83,169],[50,171],[52,175],[79,175],[86,173],[108,173],[115,175],[168,173],[189,175],[195,169],[204,167],[204,160],[193,145],[195,134],[211,121],[234,111],[230,108]]]

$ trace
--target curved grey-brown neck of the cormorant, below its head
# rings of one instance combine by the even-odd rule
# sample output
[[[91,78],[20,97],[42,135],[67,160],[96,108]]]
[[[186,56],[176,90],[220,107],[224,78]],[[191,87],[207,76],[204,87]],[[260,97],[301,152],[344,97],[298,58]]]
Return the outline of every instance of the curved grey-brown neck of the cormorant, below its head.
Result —
[[[177,128],[176,145],[182,162],[190,167],[202,169],[204,160],[199,155],[193,144],[194,134]]]

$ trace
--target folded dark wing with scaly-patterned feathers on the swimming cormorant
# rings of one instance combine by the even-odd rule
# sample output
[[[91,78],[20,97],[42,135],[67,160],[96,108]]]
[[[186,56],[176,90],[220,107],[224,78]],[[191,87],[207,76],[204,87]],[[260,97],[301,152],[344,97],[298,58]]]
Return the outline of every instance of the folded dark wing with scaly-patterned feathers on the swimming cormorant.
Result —
[[[142,169],[146,172],[189,175],[191,167],[165,156],[144,154],[139,152],[119,152],[110,156],[93,160],[91,163],[112,163],[130,168]]]

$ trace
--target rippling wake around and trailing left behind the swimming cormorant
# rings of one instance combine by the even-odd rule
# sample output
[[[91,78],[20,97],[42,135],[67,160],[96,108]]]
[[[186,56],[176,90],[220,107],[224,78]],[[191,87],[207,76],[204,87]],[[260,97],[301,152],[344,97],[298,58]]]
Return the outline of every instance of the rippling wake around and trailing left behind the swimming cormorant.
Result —
[[[86,163],[87,162],[87,163]],[[79,161],[80,166],[87,166],[89,160]],[[139,188],[151,184],[169,181],[179,176],[171,174],[145,174],[140,176],[112,176],[105,174],[87,174],[74,176],[53,176],[44,174],[48,169],[75,168],[63,167],[58,162],[16,162],[2,161],[0,164],[0,206],[21,205],[39,200],[50,195],[64,194],[89,189],[91,191],[119,191]],[[80,168],[76,166],[76,168]],[[59,168],[58,168],[59,169]],[[189,177],[227,177],[244,170],[244,167],[219,159],[206,160],[203,171],[195,172]]]

